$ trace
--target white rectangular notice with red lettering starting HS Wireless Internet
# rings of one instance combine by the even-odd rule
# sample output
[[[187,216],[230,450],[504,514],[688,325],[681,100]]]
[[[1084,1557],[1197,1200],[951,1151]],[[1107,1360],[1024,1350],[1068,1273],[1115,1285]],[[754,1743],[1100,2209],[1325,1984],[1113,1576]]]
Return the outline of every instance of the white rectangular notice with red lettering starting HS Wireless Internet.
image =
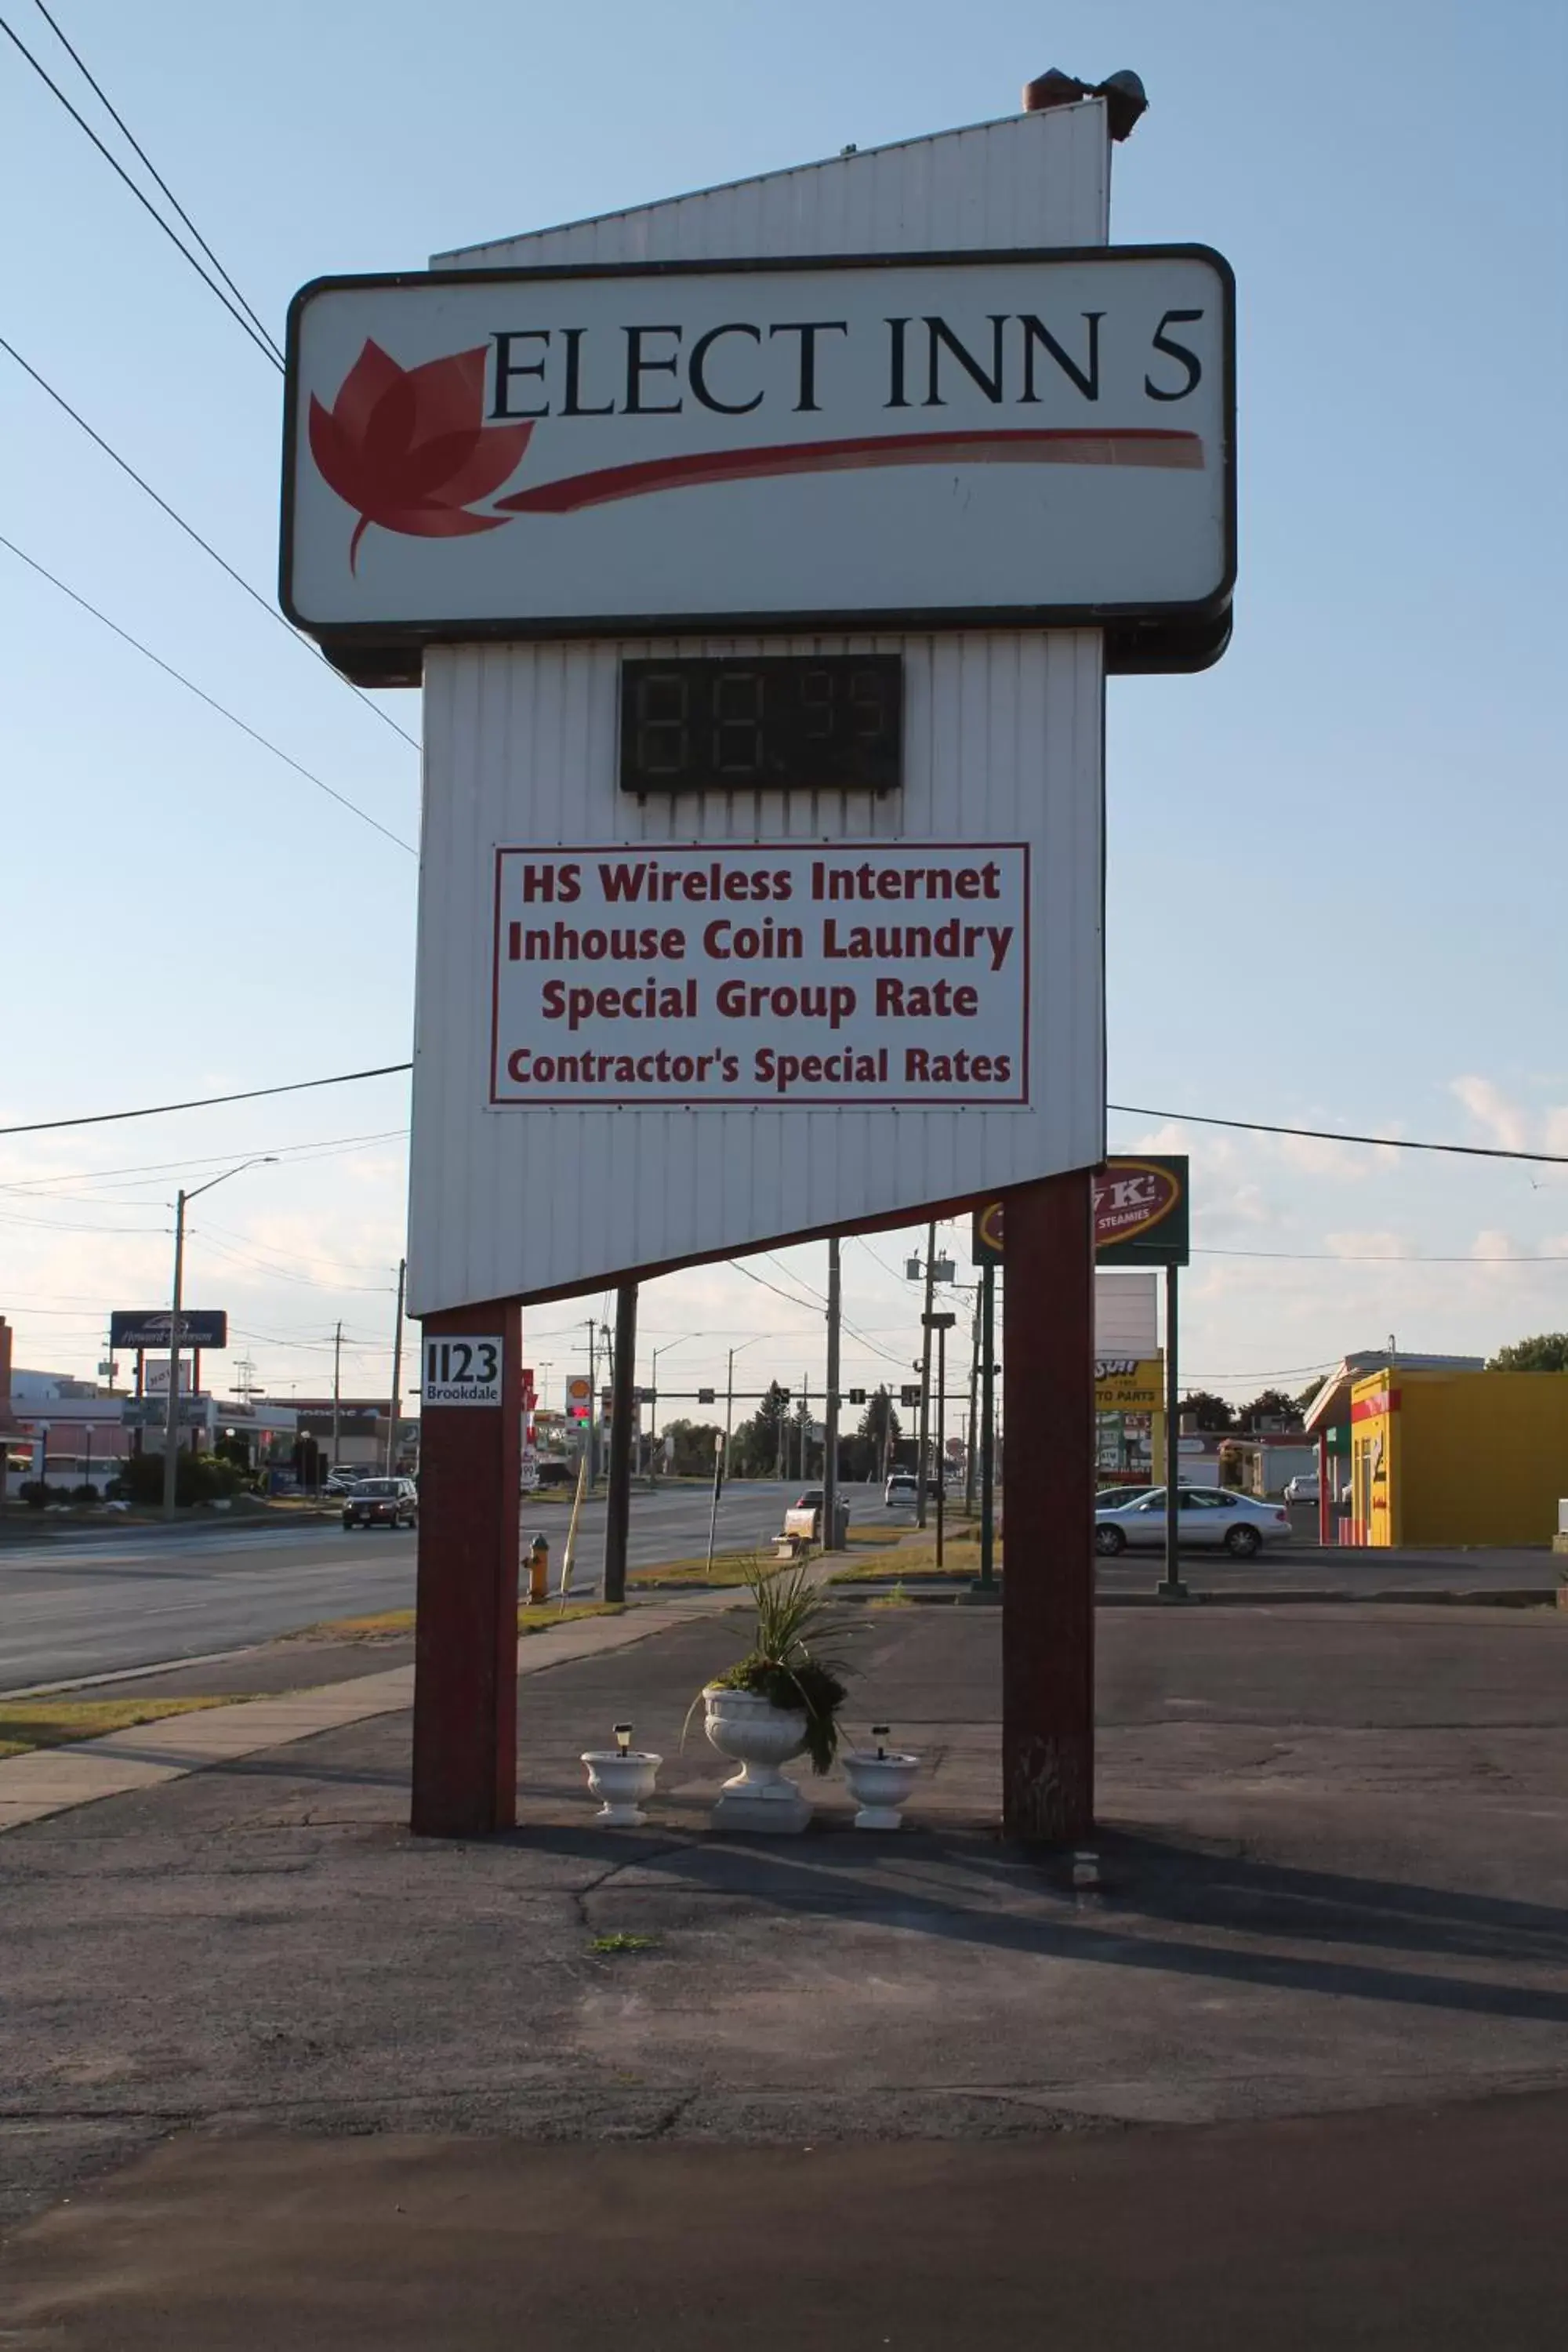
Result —
[[[491,1103],[1027,1103],[1030,849],[498,849],[491,1004]]]

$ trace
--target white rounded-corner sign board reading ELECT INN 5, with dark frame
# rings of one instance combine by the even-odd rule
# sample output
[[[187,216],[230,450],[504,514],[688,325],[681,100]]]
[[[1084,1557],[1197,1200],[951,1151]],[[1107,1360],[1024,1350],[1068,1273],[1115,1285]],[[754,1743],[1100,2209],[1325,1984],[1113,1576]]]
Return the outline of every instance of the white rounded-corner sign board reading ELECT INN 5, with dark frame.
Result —
[[[1206,247],[324,278],[282,602],[360,647],[1220,612]]]

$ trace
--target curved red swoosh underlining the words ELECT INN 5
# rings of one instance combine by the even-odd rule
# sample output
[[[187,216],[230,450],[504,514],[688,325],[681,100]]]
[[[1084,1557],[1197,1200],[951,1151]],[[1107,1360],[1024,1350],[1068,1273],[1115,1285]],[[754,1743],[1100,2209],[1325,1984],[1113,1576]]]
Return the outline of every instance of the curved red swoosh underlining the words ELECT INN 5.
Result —
[[[1204,468],[1197,433],[1128,426],[1086,433],[1081,428],[1018,433],[870,433],[863,440],[771,442],[759,449],[701,449],[693,456],[661,456],[642,466],[604,466],[569,473],[538,489],[496,499],[503,515],[574,515],[611,499],[642,499],[654,489],[691,489],[703,482],[755,482],[780,473],[849,473],[860,466],[1164,466]]]

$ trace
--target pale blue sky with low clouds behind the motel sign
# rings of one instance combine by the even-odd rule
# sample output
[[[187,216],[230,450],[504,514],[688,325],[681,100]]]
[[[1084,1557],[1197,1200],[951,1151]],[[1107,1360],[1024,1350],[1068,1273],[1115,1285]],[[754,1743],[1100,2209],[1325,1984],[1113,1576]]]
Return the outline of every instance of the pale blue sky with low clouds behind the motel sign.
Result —
[[[1561,0],[54,14],[277,332],[320,270],[1009,113],[1048,64],[1135,66],[1152,106],[1117,151],[1114,238],[1201,238],[1237,268],[1241,586],[1218,670],[1112,687],[1112,1098],[1568,1150]],[[33,0],[5,16],[80,96]],[[277,376],[9,42],[0,174],[0,332],[270,595]],[[0,416],[0,529],[411,837],[414,750],[2,353]],[[402,1058],[414,861],[5,548],[0,616],[0,1120]],[[383,701],[418,731],[416,696]],[[404,1115],[378,1082],[0,1143],[21,1362],[89,1369],[99,1312],[162,1294],[174,1183],[331,1143],[202,1204],[190,1294],[230,1305],[273,1385],[320,1381],[339,1315],[350,1376],[381,1385]],[[1112,1120],[1121,1145],[1157,1134],[1194,1160],[1185,1357],[1211,1385],[1300,1385],[1389,1331],[1481,1350],[1568,1324],[1552,1171]],[[792,1263],[820,1282],[813,1258]],[[905,1284],[865,1251],[846,1272],[860,1329],[907,1359]],[[661,1385],[750,1331],[792,1334],[752,1362],[820,1362],[818,1319],[733,1272],[654,1287],[644,1322],[712,1334]],[[536,1322],[552,1383],[567,1324]],[[877,1369],[898,1376],[867,1348],[851,1376]]]

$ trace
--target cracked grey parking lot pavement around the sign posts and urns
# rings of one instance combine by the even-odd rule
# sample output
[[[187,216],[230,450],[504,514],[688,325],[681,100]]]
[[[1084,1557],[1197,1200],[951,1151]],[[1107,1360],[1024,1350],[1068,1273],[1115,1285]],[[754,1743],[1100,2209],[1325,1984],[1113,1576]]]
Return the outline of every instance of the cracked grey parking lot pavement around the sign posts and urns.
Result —
[[[1100,1889],[997,1835],[999,1625],[856,1609],[846,1731],[898,1837],[806,1783],[715,1837],[726,1616],[534,1672],[520,1828],[407,1835],[388,1715],[0,1839],[0,2209],[169,2131],[994,2140],[1568,2089],[1568,1618],[1100,1618]],[[543,1644],[538,1644],[543,1646]],[[663,1757],[642,1832],[581,1752]]]

